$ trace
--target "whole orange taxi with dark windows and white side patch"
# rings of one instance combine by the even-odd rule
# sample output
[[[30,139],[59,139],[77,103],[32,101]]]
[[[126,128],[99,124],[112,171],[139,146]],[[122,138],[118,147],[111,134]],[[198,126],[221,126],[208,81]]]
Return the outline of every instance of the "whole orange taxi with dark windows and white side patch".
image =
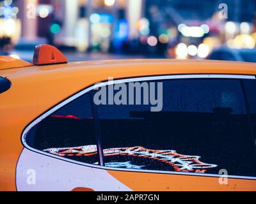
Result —
[[[245,62],[67,63],[47,45],[33,64],[0,57],[0,191],[256,191],[255,76]]]

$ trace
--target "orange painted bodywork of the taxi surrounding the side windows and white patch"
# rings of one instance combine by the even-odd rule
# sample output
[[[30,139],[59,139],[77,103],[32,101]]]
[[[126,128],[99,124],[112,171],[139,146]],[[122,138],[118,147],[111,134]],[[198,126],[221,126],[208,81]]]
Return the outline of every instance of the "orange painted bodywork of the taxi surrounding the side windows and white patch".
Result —
[[[8,65],[4,65],[4,59],[0,58],[0,76],[12,82],[12,87],[0,94],[0,191],[22,190],[17,187],[17,179],[19,179],[17,178],[17,163],[20,154],[26,149],[20,138],[28,124],[61,101],[97,82],[104,82],[109,77],[117,80],[159,75],[256,75],[255,64],[241,62],[145,59],[33,66],[33,64],[15,59],[11,61],[8,63],[12,63],[12,68],[8,68]],[[26,159],[33,167],[35,159],[32,157]],[[45,159],[47,161],[52,158],[45,156]],[[60,166],[62,163],[67,162],[60,161]],[[42,162],[42,165],[45,163]],[[70,165],[76,166],[77,164],[70,163]],[[143,173],[109,169],[95,169],[96,174],[97,171],[105,171],[111,179],[118,181],[117,186],[122,184],[127,187],[121,188],[123,190],[256,191],[256,178],[229,178],[228,185],[220,185],[219,177],[204,175]],[[26,172],[23,173],[25,178]],[[81,190],[100,190],[87,184],[77,185],[79,186],[72,186],[66,190],[72,191],[77,187]],[[33,188],[28,190],[33,191]]]

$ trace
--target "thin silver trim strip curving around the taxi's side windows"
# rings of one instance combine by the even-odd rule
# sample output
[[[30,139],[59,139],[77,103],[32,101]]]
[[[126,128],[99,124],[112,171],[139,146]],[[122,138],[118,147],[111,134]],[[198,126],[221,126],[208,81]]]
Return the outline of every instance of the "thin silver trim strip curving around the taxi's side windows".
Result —
[[[193,78],[226,78],[226,79],[251,79],[256,80],[256,77],[253,75],[225,75],[225,74],[202,74],[202,75],[164,75],[164,76],[152,76],[152,77],[133,77],[133,78],[126,78],[121,80],[112,80],[109,82],[100,82],[99,84],[92,85],[86,89],[84,89],[81,92],[78,92],[74,96],[71,96],[70,98],[66,99],[65,101],[61,102],[60,104],[54,106],[54,108],[51,108],[51,110],[48,110],[43,115],[38,117],[37,119],[33,120],[22,132],[21,142],[24,145],[24,147],[28,150],[31,150],[33,152],[36,152],[38,154],[43,154],[45,156],[53,157],[56,159],[60,159],[63,161],[68,161],[70,163],[79,164],[91,168],[99,168],[102,170],[113,170],[113,171],[130,171],[130,172],[141,172],[141,173],[163,173],[163,174],[172,174],[172,175],[192,175],[192,176],[202,176],[202,177],[227,177],[230,179],[250,179],[250,180],[256,180],[256,177],[246,177],[246,176],[237,176],[237,175],[218,175],[218,174],[208,174],[208,173],[186,173],[186,172],[177,172],[177,171],[157,171],[157,170],[134,170],[134,169],[125,169],[125,168],[112,168],[112,167],[106,167],[106,166],[99,166],[97,164],[88,164],[88,163],[82,163],[79,161],[74,161],[72,159],[67,159],[64,157],[56,156],[54,154],[49,154],[47,152],[43,152],[41,150],[34,149],[32,147],[29,147],[29,145],[26,143],[26,135],[30,131],[31,128],[33,128],[36,124],[44,120],[46,117],[51,115],[52,113],[56,112],[56,110],[59,110],[61,107],[67,105],[68,103],[74,101],[75,99],[79,98],[80,96],[83,96],[87,92],[92,91],[93,89],[104,87],[107,85],[113,85],[113,84],[123,84],[128,82],[141,82],[141,81],[154,81],[154,80],[168,80],[168,79],[193,79]]]

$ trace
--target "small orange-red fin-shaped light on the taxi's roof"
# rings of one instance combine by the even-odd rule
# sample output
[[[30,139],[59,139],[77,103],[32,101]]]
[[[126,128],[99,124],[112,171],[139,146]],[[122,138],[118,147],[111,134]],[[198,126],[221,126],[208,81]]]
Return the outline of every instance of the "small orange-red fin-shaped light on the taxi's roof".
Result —
[[[37,45],[32,63],[35,65],[67,63],[67,57],[52,45]]]

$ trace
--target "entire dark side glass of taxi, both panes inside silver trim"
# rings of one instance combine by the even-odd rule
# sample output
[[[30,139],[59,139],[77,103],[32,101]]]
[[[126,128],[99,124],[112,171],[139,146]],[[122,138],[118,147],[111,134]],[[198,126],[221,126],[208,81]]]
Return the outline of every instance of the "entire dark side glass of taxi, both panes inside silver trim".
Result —
[[[38,120],[26,133],[26,143],[58,157],[89,164],[100,161],[109,168],[209,174],[225,170],[228,175],[256,176],[256,92],[248,91],[255,80],[139,83],[163,85],[161,111],[152,112],[152,105],[96,105],[92,99],[97,91],[90,91]],[[129,84],[122,85],[128,94]],[[140,95],[144,101],[143,89]]]

